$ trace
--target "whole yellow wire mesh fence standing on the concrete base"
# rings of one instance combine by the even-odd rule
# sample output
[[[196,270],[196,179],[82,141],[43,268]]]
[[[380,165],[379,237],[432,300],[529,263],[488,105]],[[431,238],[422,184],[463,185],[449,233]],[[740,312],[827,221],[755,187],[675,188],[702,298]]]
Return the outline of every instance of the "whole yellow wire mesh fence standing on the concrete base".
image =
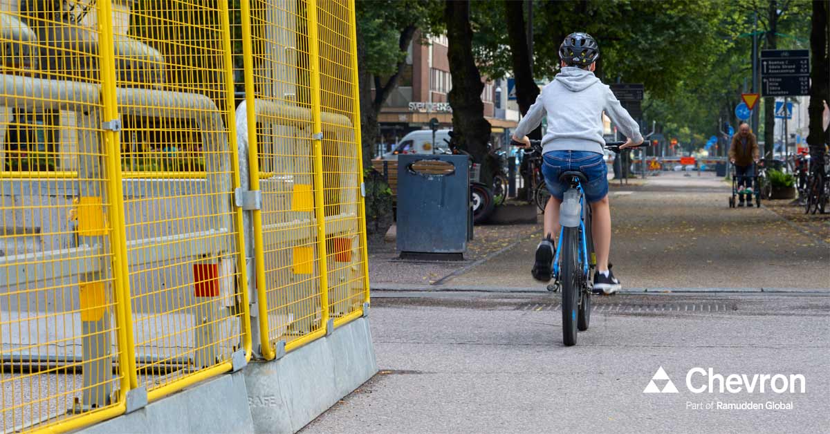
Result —
[[[3,432],[114,417],[369,300],[354,4],[231,4],[0,3]]]

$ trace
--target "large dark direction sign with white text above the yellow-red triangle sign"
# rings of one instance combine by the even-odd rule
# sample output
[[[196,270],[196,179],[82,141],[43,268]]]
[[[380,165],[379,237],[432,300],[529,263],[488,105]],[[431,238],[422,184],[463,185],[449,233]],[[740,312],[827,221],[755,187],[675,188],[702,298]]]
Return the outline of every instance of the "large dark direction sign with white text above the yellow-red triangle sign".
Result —
[[[809,93],[809,50],[761,51],[761,95],[798,96]]]

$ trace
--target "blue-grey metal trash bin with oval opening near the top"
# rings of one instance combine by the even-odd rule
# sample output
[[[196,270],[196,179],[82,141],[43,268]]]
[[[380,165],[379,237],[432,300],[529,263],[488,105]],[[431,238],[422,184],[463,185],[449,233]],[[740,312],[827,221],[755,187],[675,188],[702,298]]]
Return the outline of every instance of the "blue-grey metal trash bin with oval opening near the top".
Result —
[[[398,155],[402,258],[463,259],[471,218],[469,157]]]

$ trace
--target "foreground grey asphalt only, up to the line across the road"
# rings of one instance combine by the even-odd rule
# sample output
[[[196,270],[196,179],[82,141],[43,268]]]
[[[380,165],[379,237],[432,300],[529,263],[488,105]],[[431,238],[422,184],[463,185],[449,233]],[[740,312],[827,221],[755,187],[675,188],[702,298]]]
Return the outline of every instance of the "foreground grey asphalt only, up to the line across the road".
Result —
[[[370,320],[381,373],[303,432],[828,432],[826,294],[602,297],[575,347],[562,345],[557,300],[376,294]],[[643,393],[660,367],[678,393]],[[801,374],[806,393],[769,385],[765,393],[692,393],[686,373],[696,367],[750,380]],[[705,384],[693,374],[692,387]],[[698,402],[703,409],[692,407]],[[762,408],[717,408],[745,402]]]

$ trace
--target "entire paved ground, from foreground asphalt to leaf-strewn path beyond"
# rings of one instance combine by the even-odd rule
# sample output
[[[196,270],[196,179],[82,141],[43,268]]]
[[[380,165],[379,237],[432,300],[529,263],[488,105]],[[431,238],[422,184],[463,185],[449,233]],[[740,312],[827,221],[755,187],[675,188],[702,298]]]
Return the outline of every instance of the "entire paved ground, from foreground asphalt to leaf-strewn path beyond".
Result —
[[[628,292],[594,299],[575,347],[529,276],[533,238],[442,285],[375,291],[381,373],[304,432],[830,432],[830,246],[729,193],[678,173],[612,188]],[[677,393],[644,393],[661,367]],[[710,368],[764,393],[694,393]],[[791,375],[794,393],[772,390]]]

